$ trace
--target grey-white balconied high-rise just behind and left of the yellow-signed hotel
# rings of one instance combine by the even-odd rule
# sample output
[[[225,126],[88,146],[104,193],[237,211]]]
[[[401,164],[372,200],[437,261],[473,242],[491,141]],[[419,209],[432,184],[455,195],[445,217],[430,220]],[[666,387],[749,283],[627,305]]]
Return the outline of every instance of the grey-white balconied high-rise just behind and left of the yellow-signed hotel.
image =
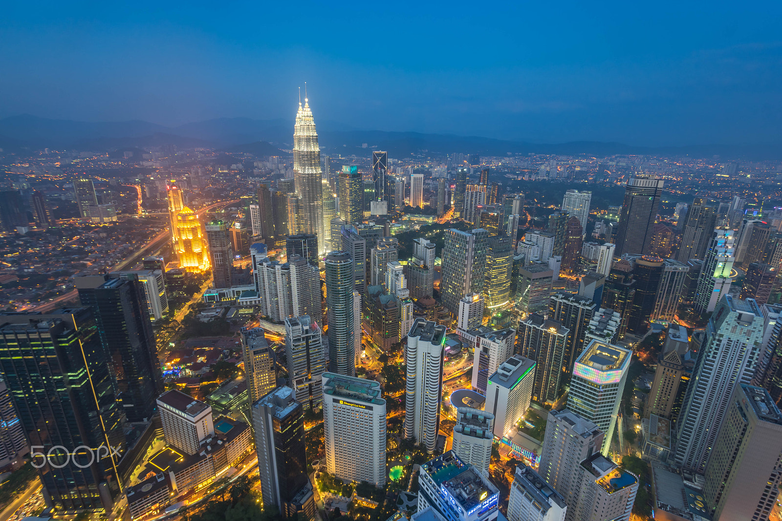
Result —
[[[326,370],[321,334],[310,316],[285,319],[289,386],[304,409],[317,409],[321,405],[321,380]]]

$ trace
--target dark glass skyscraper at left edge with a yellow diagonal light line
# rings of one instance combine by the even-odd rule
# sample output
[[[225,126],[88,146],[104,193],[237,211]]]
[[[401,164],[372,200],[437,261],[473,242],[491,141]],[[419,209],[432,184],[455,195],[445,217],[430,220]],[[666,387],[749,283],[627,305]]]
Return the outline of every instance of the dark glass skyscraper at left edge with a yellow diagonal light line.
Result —
[[[38,473],[56,512],[108,512],[121,492],[125,441],[108,362],[89,308],[0,313],[0,372],[27,441],[50,454]]]

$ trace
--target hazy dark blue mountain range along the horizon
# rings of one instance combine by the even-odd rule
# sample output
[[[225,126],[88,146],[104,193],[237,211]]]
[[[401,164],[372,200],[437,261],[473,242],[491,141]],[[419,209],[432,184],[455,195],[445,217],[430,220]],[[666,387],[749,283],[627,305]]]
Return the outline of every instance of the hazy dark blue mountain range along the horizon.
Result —
[[[782,144],[691,145],[683,147],[638,147],[600,141],[572,141],[559,144],[534,144],[503,141],[489,137],[418,132],[353,130],[341,123],[317,123],[321,148],[325,153],[369,155],[371,148],[387,150],[396,157],[418,152],[432,155],[462,152],[480,155],[664,155],[720,159],[782,159]],[[219,118],[178,127],[164,127],[147,121],[88,123],[49,120],[27,114],[0,120],[0,148],[6,152],[24,152],[41,148],[79,150],[116,150],[125,147],[177,145],[181,148],[220,148],[224,152],[253,155],[282,155],[292,148],[292,120],[251,120]],[[368,148],[362,148],[367,144]]]

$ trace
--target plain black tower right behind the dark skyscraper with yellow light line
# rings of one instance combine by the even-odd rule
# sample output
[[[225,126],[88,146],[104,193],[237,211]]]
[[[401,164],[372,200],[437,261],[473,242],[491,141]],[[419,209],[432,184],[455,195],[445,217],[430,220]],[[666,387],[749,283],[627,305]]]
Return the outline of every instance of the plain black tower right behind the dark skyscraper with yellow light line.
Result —
[[[117,405],[130,422],[149,419],[163,392],[155,334],[138,280],[76,277],[82,305],[92,307],[100,344],[109,361]]]

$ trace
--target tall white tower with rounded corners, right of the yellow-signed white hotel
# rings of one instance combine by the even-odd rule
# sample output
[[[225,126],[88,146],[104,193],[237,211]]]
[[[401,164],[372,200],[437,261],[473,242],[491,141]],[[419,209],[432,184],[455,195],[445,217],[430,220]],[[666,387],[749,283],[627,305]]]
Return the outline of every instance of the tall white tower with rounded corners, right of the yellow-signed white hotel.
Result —
[[[404,437],[424,444],[430,454],[439,431],[445,335],[445,326],[425,319],[415,319],[407,335]]]

